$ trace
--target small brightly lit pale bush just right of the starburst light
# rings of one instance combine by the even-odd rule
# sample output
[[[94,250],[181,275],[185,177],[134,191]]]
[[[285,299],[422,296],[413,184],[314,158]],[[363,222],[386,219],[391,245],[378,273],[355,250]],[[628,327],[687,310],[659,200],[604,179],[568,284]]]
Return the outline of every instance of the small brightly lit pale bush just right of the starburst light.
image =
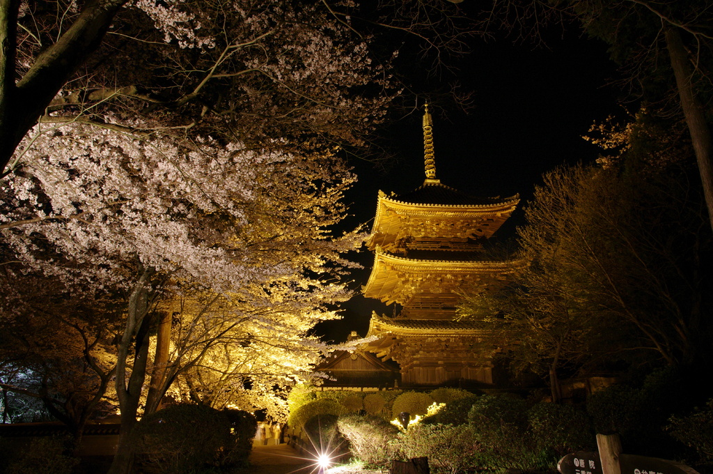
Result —
[[[392,458],[389,442],[398,428],[383,418],[371,415],[345,415],[337,420],[339,433],[349,441],[354,458],[367,466],[385,468]]]

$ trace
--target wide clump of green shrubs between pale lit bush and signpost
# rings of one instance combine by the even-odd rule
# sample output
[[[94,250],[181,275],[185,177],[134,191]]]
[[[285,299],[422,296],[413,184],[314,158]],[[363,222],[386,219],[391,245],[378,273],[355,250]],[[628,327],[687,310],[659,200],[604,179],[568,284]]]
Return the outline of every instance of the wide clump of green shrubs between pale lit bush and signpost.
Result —
[[[538,403],[530,408],[513,395],[481,395],[453,400],[409,426],[394,441],[394,450],[402,458],[429,456],[436,473],[543,471],[565,453],[592,448],[594,440],[586,413],[573,407]]]

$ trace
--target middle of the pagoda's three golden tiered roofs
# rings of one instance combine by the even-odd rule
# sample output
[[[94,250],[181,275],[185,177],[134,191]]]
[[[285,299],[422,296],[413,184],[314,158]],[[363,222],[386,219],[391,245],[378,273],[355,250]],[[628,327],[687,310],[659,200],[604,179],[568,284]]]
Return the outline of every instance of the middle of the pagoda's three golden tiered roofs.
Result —
[[[452,253],[457,257],[460,253]],[[523,261],[430,260],[391,255],[377,247],[374,268],[363,288],[366,298],[406,305],[417,293],[453,293],[465,284],[501,284]]]

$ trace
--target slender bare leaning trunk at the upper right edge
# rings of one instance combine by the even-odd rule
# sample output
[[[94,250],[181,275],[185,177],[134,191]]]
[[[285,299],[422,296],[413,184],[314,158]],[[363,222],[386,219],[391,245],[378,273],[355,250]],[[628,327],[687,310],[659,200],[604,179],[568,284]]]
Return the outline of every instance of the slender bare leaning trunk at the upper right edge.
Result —
[[[686,117],[688,131],[691,134],[693,149],[696,153],[698,171],[708,208],[708,218],[711,228],[713,228],[713,142],[711,141],[710,128],[706,123],[703,108],[693,91],[692,71],[678,29],[669,27],[666,30],[666,45],[671,58],[671,67],[676,76],[681,108]]]

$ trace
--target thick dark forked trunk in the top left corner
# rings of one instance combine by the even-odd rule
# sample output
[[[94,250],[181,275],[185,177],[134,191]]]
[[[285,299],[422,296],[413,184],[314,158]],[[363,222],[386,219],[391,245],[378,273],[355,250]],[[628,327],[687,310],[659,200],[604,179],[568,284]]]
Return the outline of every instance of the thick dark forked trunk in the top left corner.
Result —
[[[90,0],[73,24],[15,84],[17,0],[0,0],[0,173],[50,101],[101,44],[127,0]]]

